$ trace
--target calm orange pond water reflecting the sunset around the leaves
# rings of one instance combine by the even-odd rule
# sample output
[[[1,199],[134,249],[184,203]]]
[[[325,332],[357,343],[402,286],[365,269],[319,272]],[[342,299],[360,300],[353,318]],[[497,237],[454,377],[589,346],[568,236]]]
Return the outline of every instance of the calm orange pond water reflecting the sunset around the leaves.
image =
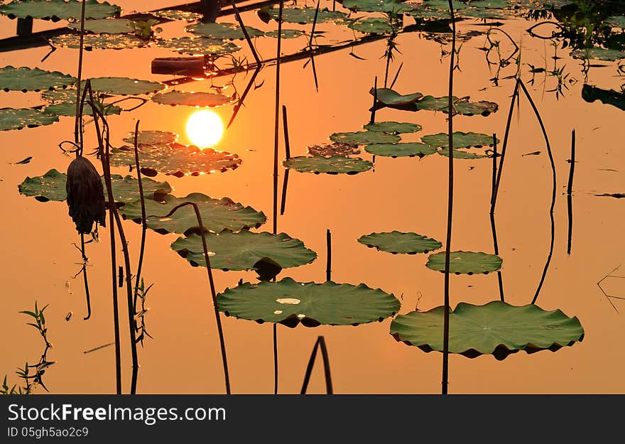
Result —
[[[173,1],[116,1],[122,14],[177,6]],[[248,2],[249,4],[249,2]],[[287,6],[291,6],[288,4]],[[298,6],[303,6],[298,2]],[[314,8],[315,4],[309,2]],[[322,1],[332,9],[332,2]],[[346,11],[340,4],[337,10]],[[621,12],[622,13],[622,12]],[[360,13],[363,16],[380,14]],[[247,26],[261,31],[276,28],[276,21],[263,23],[254,10],[242,14]],[[616,15],[616,14],[615,14]],[[562,15],[560,14],[560,18]],[[558,18],[545,18],[557,21]],[[542,19],[539,19],[540,21]],[[232,14],[217,21],[234,23]],[[489,20],[492,22],[494,20]],[[553,394],[553,393],[622,393],[625,382],[619,377],[625,370],[621,339],[625,335],[622,312],[625,303],[624,200],[603,194],[625,192],[625,151],[622,149],[620,125],[623,110],[611,104],[582,99],[585,85],[603,90],[624,85],[618,61],[597,62],[585,72],[583,60],[572,58],[571,48],[562,48],[562,39],[543,40],[532,37],[527,28],[536,20],[516,17],[497,18],[505,31],[521,48],[520,73],[527,85],[548,132],[556,170],[555,237],[545,281],[536,301],[544,310],[562,310],[576,316],[584,328],[581,342],[562,347],[556,352],[543,350],[533,354],[518,352],[504,360],[491,355],[469,359],[450,354],[450,393],[454,394]],[[405,26],[415,22],[403,16]],[[1,17],[2,38],[13,36],[15,21]],[[34,31],[64,26],[65,21],[51,23],[35,20]],[[183,36],[184,21],[161,23],[161,38]],[[284,28],[310,31],[310,24],[284,23]],[[472,102],[486,100],[499,104],[499,110],[487,117],[456,115],[455,131],[493,134],[502,140],[510,97],[514,89],[517,66],[514,61],[501,67],[499,80],[494,80],[496,65],[485,58],[488,46],[482,19],[457,23],[461,42],[458,67],[455,70],[454,94],[470,96]],[[346,26],[318,23],[317,30],[327,31],[317,43],[339,43],[362,38]],[[474,36],[467,32],[474,31]],[[538,32],[538,30],[536,31]],[[550,33],[550,31],[548,31]],[[614,33],[618,33],[614,30]],[[447,95],[450,33],[422,30],[398,33],[398,53],[390,63],[388,85],[401,64],[393,90],[401,94],[421,92],[435,97]],[[513,50],[501,31],[492,31],[491,40],[499,40],[501,57]],[[387,40],[381,37],[367,43],[349,45],[315,56],[318,90],[310,58],[290,60],[289,55],[305,48],[308,36],[283,39],[285,60],[280,65],[280,104],[288,109],[288,133],[291,156],[308,156],[307,147],[329,143],[330,134],[360,131],[369,123],[372,97],[369,90],[377,76],[378,87],[384,82]],[[276,38],[254,39],[263,60],[276,57]],[[553,45],[553,42],[557,46]],[[237,40],[242,50],[237,57],[254,60],[245,40]],[[58,48],[43,62],[49,47],[37,46],[0,53],[0,65],[39,67],[77,75],[78,50]],[[557,59],[553,56],[557,50]],[[87,51],[82,77],[131,77],[166,82],[173,75],[151,73],[154,58],[178,54],[151,45],[148,48]],[[356,55],[356,57],[354,57]],[[496,51],[489,53],[498,61]],[[518,57],[516,53],[514,57]],[[229,63],[224,59],[224,64]],[[531,67],[545,70],[530,72]],[[561,91],[558,77],[548,72],[562,70]],[[542,71],[542,72],[541,72]],[[184,82],[180,91],[211,92],[211,84],[227,85],[224,93],[232,95],[245,90],[252,71],[212,80]],[[532,82],[533,80],[533,82]],[[232,85],[228,85],[229,82]],[[167,180],[172,193],[179,197],[204,193],[211,197],[229,197],[235,202],[262,210],[268,220],[259,229],[272,231],[273,214],[273,146],[276,64],[266,63],[254,79],[244,106],[224,131],[214,148],[236,153],[242,163],[224,173],[190,176],[158,175]],[[173,87],[170,86],[169,90]],[[555,90],[555,91],[554,91]],[[146,96],[143,96],[146,97]],[[44,104],[38,92],[3,92],[0,107],[38,107]],[[195,107],[157,104],[148,101],[142,107],[109,117],[113,146],[134,130],[173,131],[181,144],[190,144],[185,126]],[[214,108],[227,123],[233,106]],[[402,141],[419,141],[426,134],[447,131],[447,114],[420,110],[408,112],[384,108],[376,112],[376,121],[411,122],[423,126],[415,134],[402,135]],[[567,195],[570,170],[571,131],[576,131],[575,177],[572,193],[571,252],[567,254]],[[87,246],[89,289],[92,316],[86,314],[85,289],[82,286],[81,256],[73,243],[80,242],[65,202],[38,202],[18,192],[27,177],[43,175],[51,168],[67,171],[72,156],[58,148],[61,141],[72,140],[74,119],[60,117],[49,126],[19,131],[2,131],[0,156],[0,193],[4,200],[1,239],[4,248],[4,276],[0,331],[3,356],[0,374],[9,382],[20,381],[14,374],[25,361],[35,364],[40,356],[41,340],[26,325],[27,316],[20,310],[31,310],[49,304],[45,310],[48,339],[53,347],[48,359],[55,364],[45,372],[45,386],[52,393],[114,393],[114,347],[85,353],[114,340],[110,275],[109,227],[100,227],[99,243]],[[279,161],[286,158],[282,127],[279,132]],[[85,153],[97,146],[92,124],[85,129]],[[326,280],[327,229],[332,234],[332,281],[364,283],[392,293],[401,302],[400,315],[418,308],[421,312],[443,304],[444,275],[425,267],[428,254],[389,254],[367,248],[357,242],[364,234],[374,232],[416,232],[445,242],[447,229],[447,163],[448,158],[433,154],[419,157],[372,158],[361,147],[360,157],[374,161],[374,168],[355,175],[300,173],[290,170],[286,207],[278,215],[278,232],[300,239],[317,252],[312,263],[281,271],[278,280],[290,277],[298,282]],[[499,256],[503,259],[501,281],[507,303],[531,303],[539,285],[550,250],[550,202],[552,172],[543,134],[531,104],[523,94],[511,120],[506,153],[495,212]],[[538,153],[536,153],[538,151]],[[29,163],[17,163],[32,156]],[[94,165],[102,170],[99,160]],[[491,199],[491,158],[456,159],[453,208],[452,251],[493,253],[493,235],[489,217]],[[112,173],[126,174],[128,168],[112,168]],[[278,169],[278,205],[282,194],[285,169]],[[108,223],[107,223],[108,225]],[[141,242],[140,225],[124,221],[129,239],[131,264],[135,268]],[[212,310],[210,289],[205,269],[191,267],[170,247],[179,234],[159,234],[148,230],[142,276],[153,283],[146,305],[148,332],[153,340],[138,347],[137,393],[223,393],[224,381],[219,352],[219,337]],[[443,247],[444,248],[444,247]],[[210,249],[210,245],[209,245]],[[440,250],[444,251],[444,249]],[[121,264],[121,251],[118,254]],[[620,266],[620,269],[617,267]],[[254,271],[213,270],[218,293],[237,286],[239,279],[256,283]],[[597,283],[604,278],[602,286]],[[603,292],[602,291],[605,292]],[[607,298],[607,295],[613,296]],[[124,393],[129,390],[131,360],[128,346],[125,291],[119,289],[121,319],[121,357]],[[473,276],[450,276],[450,304],[483,305],[499,300],[496,273]],[[72,312],[72,318],[66,315]],[[619,314],[620,313],[620,314]],[[124,320],[126,320],[124,322]],[[442,359],[439,352],[425,353],[417,347],[396,341],[389,334],[391,318],[382,322],[354,326],[298,325],[277,326],[279,357],[279,393],[298,393],[310,352],[317,336],[325,337],[332,384],[338,394],[436,394],[440,393]],[[273,392],[273,334],[271,323],[226,317],[222,325],[227,347],[232,392],[263,394]],[[548,326],[547,326],[548,327]],[[309,393],[324,393],[325,382],[320,357],[312,372]],[[37,393],[43,392],[38,389]]]

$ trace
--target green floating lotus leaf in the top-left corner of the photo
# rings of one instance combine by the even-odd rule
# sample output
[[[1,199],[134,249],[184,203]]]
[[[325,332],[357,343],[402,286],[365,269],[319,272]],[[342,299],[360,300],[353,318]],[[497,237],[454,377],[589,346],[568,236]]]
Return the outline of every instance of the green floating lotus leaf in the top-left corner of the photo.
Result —
[[[9,18],[42,18],[43,20],[80,19],[80,0],[23,0],[0,5],[0,14]],[[85,18],[119,16],[121,8],[107,1],[85,0]]]

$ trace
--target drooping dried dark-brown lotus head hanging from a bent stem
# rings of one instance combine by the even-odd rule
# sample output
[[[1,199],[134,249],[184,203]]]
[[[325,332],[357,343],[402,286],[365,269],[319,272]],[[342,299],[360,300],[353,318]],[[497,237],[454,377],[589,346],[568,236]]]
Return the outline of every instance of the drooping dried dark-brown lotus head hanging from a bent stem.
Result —
[[[89,234],[93,222],[106,227],[106,207],[104,206],[104,187],[99,173],[85,157],[75,158],[67,168],[67,206],[70,216],[80,234]]]

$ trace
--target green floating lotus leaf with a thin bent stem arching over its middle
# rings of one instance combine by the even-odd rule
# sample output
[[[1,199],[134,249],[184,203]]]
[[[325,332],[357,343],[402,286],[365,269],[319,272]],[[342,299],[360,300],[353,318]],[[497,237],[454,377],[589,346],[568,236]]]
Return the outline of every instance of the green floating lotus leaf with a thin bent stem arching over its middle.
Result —
[[[197,224],[195,210],[191,206],[180,208],[168,217],[162,217],[183,202],[197,204],[202,215],[202,224],[211,232],[219,233],[225,229],[238,232],[241,229],[258,228],[267,220],[263,212],[257,212],[252,207],[244,207],[228,197],[213,199],[201,193],[192,193],[187,197],[166,195],[160,202],[146,201],[148,228],[161,234],[199,231],[200,226]],[[121,215],[126,219],[141,223],[141,201],[136,200],[124,205]]]

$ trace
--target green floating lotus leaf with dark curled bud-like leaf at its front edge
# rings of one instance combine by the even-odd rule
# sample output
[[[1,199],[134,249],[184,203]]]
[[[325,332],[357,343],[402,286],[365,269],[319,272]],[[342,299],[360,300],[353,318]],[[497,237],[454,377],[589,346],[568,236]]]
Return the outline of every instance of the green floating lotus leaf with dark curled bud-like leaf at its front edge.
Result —
[[[208,251],[213,253],[209,253],[211,268],[225,271],[254,269],[256,262],[263,258],[269,258],[286,269],[308,264],[317,257],[317,253],[306,248],[302,241],[284,233],[253,233],[246,230],[238,233],[208,233],[206,242]],[[179,237],[171,247],[192,266],[206,266],[200,234]]]

